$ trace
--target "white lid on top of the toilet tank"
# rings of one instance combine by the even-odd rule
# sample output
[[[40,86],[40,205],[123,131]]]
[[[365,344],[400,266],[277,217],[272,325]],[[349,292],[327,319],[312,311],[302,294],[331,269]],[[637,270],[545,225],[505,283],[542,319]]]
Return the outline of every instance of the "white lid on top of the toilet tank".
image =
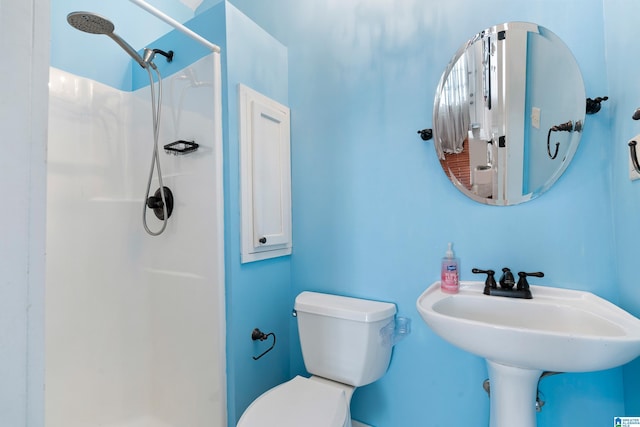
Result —
[[[297,312],[367,323],[390,318],[396,314],[396,305],[390,302],[309,291],[302,292],[296,297],[294,308]]]

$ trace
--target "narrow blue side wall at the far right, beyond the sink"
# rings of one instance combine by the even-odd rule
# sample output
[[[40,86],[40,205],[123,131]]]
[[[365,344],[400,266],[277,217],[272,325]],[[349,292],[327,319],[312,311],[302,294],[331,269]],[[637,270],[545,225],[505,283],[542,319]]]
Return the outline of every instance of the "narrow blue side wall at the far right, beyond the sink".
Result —
[[[615,237],[620,305],[640,317],[638,287],[637,217],[640,213],[640,181],[629,181],[629,147],[627,142],[640,134],[640,122],[631,115],[640,107],[640,79],[637,70],[640,56],[630,35],[637,31],[634,19],[640,4],[631,1],[605,0],[607,72],[611,96],[611,129],[602,141],[609,150],[613,165],[612,203],[615,207]],[[639,141],[640,142],[640,141]],[[624,367],[626,412],[640,414],[640,359]]]

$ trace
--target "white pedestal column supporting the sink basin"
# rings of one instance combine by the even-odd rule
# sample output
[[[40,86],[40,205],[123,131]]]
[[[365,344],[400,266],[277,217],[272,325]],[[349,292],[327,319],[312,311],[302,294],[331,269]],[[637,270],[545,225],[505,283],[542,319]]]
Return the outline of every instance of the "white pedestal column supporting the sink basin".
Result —
[[[490,427],[535,427],[536,394],[542,371],[501,365],[487,360]]]

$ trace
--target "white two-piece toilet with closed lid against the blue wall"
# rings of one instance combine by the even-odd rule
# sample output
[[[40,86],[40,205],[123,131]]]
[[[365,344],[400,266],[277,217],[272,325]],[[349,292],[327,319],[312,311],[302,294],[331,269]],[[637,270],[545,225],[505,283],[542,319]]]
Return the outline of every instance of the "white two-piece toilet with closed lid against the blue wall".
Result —
[[[312,376],[296,376],[263,393],[237,427],[351,427],[354,389],[377,381],[389,367],[394,304],[302,292],[295,310]]]

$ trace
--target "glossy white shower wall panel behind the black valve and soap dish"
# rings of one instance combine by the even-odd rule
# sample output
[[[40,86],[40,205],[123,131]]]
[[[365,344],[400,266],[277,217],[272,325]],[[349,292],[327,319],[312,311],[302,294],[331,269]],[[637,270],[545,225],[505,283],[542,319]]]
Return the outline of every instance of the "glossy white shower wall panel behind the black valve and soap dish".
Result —
[[[222,161],[216,158],[221,155],[216,150],[220,125],[213,120],[219,114],[214,58],[207,56],[163,83],[163,184],[173,191],[175,206],[162,235],[144,236],[140,258],[151,302],[153,411],[175,427],[222,425],[226,404],[223,265],[216,265],[222,260],[223,236],[216,226],[223,209],[217,200],[222,195],[216,194],[222,188]],[[134,92],[135,139],[144,140],[150,129],[149,98],[149,88]],[[166,155],[162,146],[178,140],[193,141],[199,148]],[[146,145],[140,153],[145,166],[151,162]],[[151,187],[159,188],[156,179]],[[148,221],[153,230],[160,228],[155,216]]]

